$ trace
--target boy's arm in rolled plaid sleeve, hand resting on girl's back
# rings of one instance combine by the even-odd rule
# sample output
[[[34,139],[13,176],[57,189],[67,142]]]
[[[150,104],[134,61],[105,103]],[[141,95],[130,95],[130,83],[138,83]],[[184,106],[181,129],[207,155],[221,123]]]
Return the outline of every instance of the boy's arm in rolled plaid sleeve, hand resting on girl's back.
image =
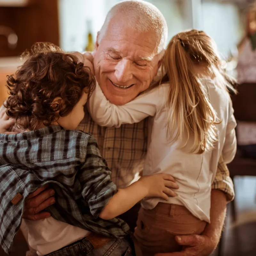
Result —
[[[96,140],[91,136],[85,163],[79,171],[79,180],[83,186],[82,196],[94,218],[112,219],[132,208],[145,196],[168,199],[168,196],[175,196],[170,188],[178,188],[171,175],[157,174],[143,177],[129,187],[117,190],[110,174]]]

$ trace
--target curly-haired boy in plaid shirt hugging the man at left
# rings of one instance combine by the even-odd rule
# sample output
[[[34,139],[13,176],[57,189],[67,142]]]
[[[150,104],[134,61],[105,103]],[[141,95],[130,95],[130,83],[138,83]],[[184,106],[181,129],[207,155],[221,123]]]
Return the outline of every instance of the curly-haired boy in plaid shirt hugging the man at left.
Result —
[[[52,217],[25,220],[38,255],[133,255],[129,227],[115,217],[145,196],[167,200],[172,176],[146,176],[117,190],[96,140],[75,130],[95,88],[90,68],[52,44],[38,43],[25,57],[8,76],[5,103],[22,132],[0,134],[1,246],[11,252],[25,199],[50,183],[56,193],[48,207]]]

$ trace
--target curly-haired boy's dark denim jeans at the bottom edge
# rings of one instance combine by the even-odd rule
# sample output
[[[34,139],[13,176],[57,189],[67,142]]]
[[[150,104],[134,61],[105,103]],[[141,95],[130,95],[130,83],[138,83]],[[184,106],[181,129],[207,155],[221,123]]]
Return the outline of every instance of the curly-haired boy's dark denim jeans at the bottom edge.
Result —
[[[95,249],[86,238],[69,244],[47,256],[135,256],[131,244],[125,238],[110,239],[99,249]],[[46,255],[45,255],[46,256]]]

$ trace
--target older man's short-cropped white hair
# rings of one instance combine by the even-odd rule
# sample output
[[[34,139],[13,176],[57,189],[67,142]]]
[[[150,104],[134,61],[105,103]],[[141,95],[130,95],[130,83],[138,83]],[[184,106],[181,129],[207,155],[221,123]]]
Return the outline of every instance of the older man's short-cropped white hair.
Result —
[[[110,21],[113,18],[125,19],[127,27],[134,28],[138,32],[153,31],[158,37],[157,53],[164,49],[167,40],[167,23],[163,14],[155,5],[145,1],[127,0],[114,5],[108,12],[103,26],[100,29],[98,41],[105,36]]]

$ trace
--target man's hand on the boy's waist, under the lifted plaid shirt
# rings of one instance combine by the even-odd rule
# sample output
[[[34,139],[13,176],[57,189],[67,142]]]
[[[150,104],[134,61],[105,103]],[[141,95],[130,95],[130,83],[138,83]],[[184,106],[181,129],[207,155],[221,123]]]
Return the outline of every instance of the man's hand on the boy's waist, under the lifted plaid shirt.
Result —
[[[55,203],[55,198],[53,197],[55,192],[53,189],[46,189],[48,187],[49,185],[42,186],[28,196],[22,215],[23,219],[43,220],[51,217],[50,212],[41,212]]]

